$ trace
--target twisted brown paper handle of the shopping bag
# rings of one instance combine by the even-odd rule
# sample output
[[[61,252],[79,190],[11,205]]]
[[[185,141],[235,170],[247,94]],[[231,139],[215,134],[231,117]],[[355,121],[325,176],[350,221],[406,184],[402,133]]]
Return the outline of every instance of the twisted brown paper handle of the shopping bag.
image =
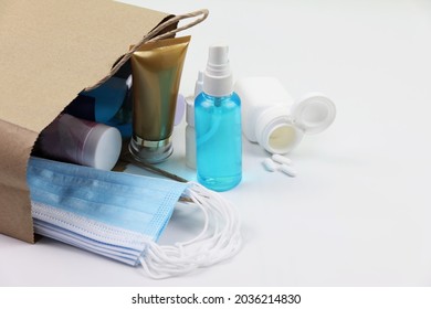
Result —
[[[144,45],[145,43],[148,43],[148,42],[154,42],[154,41],[157,41],[157,40],[161,40],[161,39],[166,39],[166,38],[169,38],[171,36],[172,34],[177,33],[177,32],[180,32],[182,30],[186,30],[186,29],[189,29],[202,21],[204,21],[207,19],[209,14],[209,11],[207,9],[202,9],[202,10],[198,10],[198,11],[195,11],[195,12],[190,12],[190,13],[187,13],[187,14],[180,14],[180,15],[175,15],[174,18],[160,23],[159,25],[157,25],[155,29],[153,29],[150,32],[148,32],[137,44],[135,44],[127,53],[125,53],[122,57],[120,61],[118,61],[112,68],[111,68],[111,72],[109,74],[107,74],[104,78],[102,78],[101,81],[98,81],[96,84],[94,84],[93,86],[90,86],[90,87],[86,87],[85,90],[92,90],[94,88],[97,88],[98,86],[101,86],[103,83],[105,83],[107,79],[109,79],[112,76],[114,76],[115,73],[117,73],[117,71],[132,57],[132,54],[134,52],[136,52],[137,50],[139,50],[139,47],[141,45]],[[183,20],[183,19],[190,19],[190,18],[196,18],[196,17],[199,17],[198,19],[182,25],[182,26],[179,26],[179,28],[176,28],[171,31],[168,31],[168,32],[165,32],[162,34],[157,34],[159,33],[160,31],[165,30],[166,28],[168,28],[169,25],[171,24],[175,24],[177,22],[179,22],[180,20]]]

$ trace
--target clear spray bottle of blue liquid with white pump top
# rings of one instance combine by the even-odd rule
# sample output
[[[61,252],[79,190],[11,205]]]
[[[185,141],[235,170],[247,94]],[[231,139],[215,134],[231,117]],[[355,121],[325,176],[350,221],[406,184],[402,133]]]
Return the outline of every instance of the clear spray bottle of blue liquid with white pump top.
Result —
[[[195,100],[198,181],[227,191],[242,178],[241,100],[233,92],[227,45],[209,49],[202,93]]]

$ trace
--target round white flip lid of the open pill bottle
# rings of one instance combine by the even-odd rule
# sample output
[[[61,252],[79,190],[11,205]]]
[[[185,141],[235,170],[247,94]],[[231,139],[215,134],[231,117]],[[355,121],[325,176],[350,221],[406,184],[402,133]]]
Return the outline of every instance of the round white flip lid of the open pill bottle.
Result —
[[[336,108],[325,95],[311,93],[292,106],[291,115],[305,134],[319,134],[334,122]]]

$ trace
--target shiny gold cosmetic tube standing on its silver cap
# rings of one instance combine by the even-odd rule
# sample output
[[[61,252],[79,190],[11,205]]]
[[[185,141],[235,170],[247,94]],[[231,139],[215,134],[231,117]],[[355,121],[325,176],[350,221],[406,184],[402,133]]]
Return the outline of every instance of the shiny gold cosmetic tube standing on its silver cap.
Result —
[[[172,153],[171,135],[177,96],[190,36],[144,44],[130,58],[133,75],[133,137],[129,150],[148,163]]]

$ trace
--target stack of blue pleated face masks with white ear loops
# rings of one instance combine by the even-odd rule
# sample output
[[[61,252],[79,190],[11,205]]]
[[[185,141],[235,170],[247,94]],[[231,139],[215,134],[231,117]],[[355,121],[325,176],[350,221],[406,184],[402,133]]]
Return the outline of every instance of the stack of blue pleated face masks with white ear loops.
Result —
[[[241,246],[233,205],[197,183],[111,172],[31,158],[28,184],[34,232],[167,278],[224,260]],[[204,214],[195,238],[161,246],[181,200]]]

